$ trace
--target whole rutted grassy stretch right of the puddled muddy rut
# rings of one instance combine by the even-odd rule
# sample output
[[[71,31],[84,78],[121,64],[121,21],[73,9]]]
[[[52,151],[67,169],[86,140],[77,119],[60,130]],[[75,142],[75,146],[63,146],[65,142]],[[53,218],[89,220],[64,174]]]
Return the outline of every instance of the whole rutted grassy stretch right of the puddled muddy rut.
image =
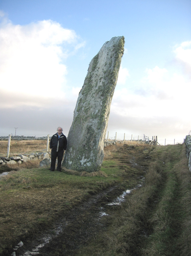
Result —
[[[107,231],[81,247],[79,256],[190,255],[191,175],[185,145],[156,147],[148,158],[144,186],[115,208]]]

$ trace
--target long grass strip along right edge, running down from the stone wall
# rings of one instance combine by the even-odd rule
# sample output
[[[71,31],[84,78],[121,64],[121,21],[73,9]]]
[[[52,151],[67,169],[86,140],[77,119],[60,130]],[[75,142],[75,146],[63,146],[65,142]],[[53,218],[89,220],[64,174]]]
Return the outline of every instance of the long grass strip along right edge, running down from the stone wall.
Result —
[[[166,162],[165,186],[160,191],[160,203],[150,221],[153,233],[149,237],[143,255],[148,256],[188,256],[191,252],[191,175],[185,155],[185,146],[176,145],[165,148],[162,154]],[[186,223],[186,225],[185,225]]]

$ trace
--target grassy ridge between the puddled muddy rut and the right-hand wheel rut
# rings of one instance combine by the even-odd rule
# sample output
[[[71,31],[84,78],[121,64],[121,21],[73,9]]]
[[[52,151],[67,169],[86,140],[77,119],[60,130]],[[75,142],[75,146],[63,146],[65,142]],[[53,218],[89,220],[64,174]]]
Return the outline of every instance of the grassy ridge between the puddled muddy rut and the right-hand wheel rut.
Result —
[[[107,232],[98,237],[85,248],[81,248],[78,255],[88,256],[129,256],[139,255],[137,248],[142,233],[144,215],[155,199],[160,186],[161,175],[149,167],[145,175],[146,183],[141,190],[133,190],[126,201],[118,206],[116,212],[110,216],[110,226]],[[147,229],[147,227],[146,227]]]

